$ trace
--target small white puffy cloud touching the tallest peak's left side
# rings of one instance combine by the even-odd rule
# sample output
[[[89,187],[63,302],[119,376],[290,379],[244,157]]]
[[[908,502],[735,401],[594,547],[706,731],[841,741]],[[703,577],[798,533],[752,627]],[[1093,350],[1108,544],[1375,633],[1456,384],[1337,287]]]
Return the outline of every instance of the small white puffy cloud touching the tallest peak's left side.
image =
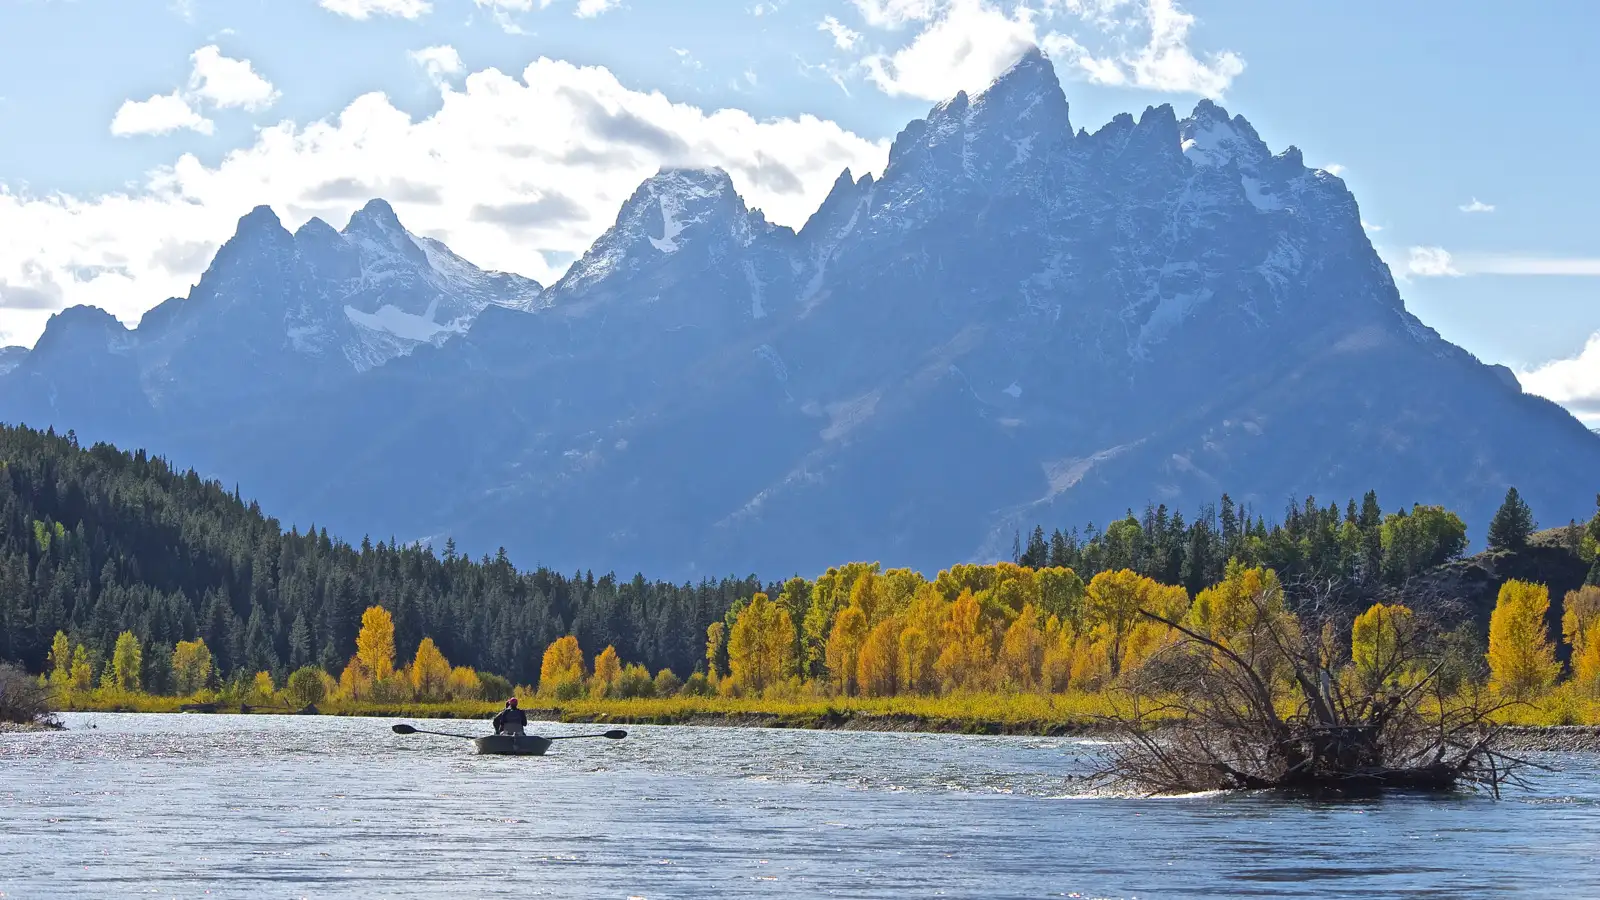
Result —
[[[1034,14],[1006,14],[986,0],[952,0],[909,45],[867,56],[867,77],[891,96],[947,99],[979,90],[1035,43]]]

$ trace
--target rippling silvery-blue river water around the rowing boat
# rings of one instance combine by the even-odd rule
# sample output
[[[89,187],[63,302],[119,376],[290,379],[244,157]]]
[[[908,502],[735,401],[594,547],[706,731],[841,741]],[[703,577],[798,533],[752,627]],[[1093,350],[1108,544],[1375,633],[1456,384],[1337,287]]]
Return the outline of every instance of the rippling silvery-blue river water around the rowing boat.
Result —
[[[1595,756],[1499,802],[1314,804],[1085,798],[1070,738],[640,725],[517,759],[381,719],[66,721],[0,735],[8,900],[1600,897]]]

